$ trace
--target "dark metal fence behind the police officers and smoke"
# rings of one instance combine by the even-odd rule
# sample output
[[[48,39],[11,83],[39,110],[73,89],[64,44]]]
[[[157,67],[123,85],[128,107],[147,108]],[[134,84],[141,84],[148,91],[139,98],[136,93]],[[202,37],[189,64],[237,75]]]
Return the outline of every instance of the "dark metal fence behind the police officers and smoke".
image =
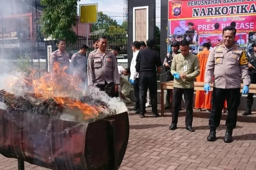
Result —
[[[120,55],[127,58],[127,34],[105,34],[108,39],[107,49],[111,50],[114,46],[121,49]],[[72,55],[77,52],[83,44],[89,47],[89,52],[93,51],[93,40],[97,40],[98,36],[77,36],[75,43],[67,43],[67,52]],[[20,54],[30,54],[31,58],[41,59],[47,58],[47,45],[53,45],[53,50],[57,49],[55,46],[56,41],[49,42],[44,40],[31,40],[31,39],[3,39],[0,40],[0,54],[1,58],[15,59]]]

